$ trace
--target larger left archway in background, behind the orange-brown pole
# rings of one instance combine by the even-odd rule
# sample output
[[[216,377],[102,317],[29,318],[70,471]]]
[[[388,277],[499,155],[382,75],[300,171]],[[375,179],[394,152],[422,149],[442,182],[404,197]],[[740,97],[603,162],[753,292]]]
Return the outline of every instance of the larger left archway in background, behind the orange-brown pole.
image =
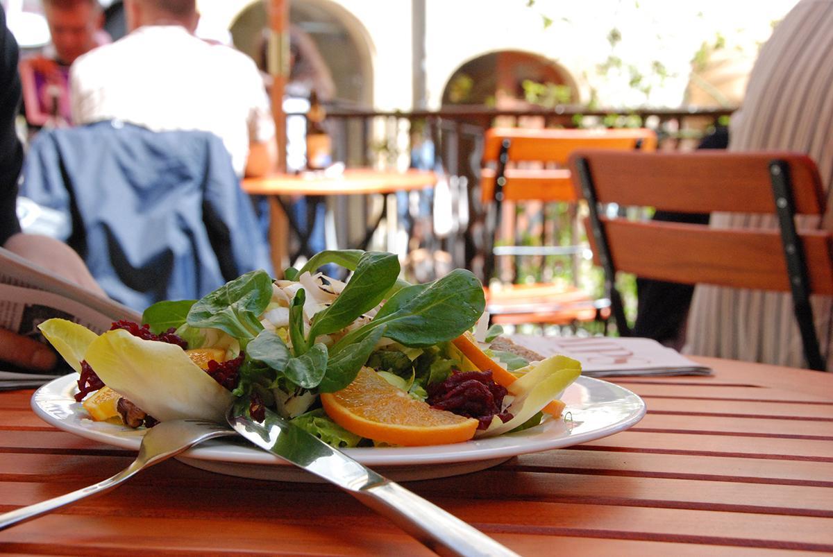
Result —
[[[335,83],[334,101],[343,105],[372,105],[371,47],[362,23],[327,0],[292,2],[290,23],[312,39]],[[257,60],[267,25],[265,2],[252,2],[232,22],[234,46]]]

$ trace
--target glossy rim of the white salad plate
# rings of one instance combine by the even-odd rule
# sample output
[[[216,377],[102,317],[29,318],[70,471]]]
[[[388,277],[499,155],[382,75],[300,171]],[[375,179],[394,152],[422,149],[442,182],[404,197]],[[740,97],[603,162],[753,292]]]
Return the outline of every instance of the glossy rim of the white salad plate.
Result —
[[[95,422],[75,402],[77,374],[63,375],[42,385],[32,395],[32,410],[47,424],[73,435],[122,449],[138,450],[143,430]],[[539,426],[514,434],[454,445],[423,447],[358,447],[345,449],[363,465],[413,466],[494,460],[579,445],[601,439],[635,425],[646,413],[645,402],[631,390],[605,380],[581,375],[562,400],[565,419],[545,420]],[[212,440],[187,450],[182,456],[247,465],[288,465],[277,455],[228,440]]]

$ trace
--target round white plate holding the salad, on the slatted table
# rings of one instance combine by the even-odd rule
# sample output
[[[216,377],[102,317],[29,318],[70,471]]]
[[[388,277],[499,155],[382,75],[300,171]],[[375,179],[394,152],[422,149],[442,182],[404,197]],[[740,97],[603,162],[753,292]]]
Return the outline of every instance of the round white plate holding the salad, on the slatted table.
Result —
[[[144,430],[97,422],[75,401],[77,375],[59,377],[32,395],[32,409],[59,430],[124,449],[138,450]],[[619,385],[581,376],[565,391],[565,419],[513,434],[455,445],[347,449],[348,455],[392,480],[426,480],[466,474],[512,456],[577,445],[626,430],[645,415],[645,402]],[[207,441],[177,457],[187,465],[261,480],[318,481],[305,470],[242,439]]]

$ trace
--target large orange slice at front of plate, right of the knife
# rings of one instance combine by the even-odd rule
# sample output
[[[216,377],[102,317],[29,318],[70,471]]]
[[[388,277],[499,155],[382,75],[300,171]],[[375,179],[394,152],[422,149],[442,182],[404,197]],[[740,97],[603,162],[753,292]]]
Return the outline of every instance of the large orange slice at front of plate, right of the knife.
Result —
[[[392,445],[460,443],[477,429],[477,420],[435,410],[367,367],[344,389],[322,393],[321,402],[345,430]]]

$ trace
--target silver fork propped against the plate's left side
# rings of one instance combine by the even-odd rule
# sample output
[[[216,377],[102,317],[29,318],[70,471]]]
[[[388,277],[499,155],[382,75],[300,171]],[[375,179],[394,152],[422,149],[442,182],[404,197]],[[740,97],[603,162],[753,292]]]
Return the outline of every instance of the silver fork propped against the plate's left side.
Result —
[[[46,515],[53,510],[72,505],[79,500],[92,495],[101,495],[112,490],[123,481],[132,477],[139,470],[162,462],[167,458],[178,455],[204,440],[226,435],[237,435],[234,430],[228,429],[226,425],[215,424],[204,420],[170,420],[163,421],[150,430],[147,430],[142,439],[142,446],[139,447],[139,454],[131,465],[107,480],[95,485],[72,491],[67,495],[60,495],[50,500],[21,507],[0,515],[0,530],[32,520],[41,515]]]

